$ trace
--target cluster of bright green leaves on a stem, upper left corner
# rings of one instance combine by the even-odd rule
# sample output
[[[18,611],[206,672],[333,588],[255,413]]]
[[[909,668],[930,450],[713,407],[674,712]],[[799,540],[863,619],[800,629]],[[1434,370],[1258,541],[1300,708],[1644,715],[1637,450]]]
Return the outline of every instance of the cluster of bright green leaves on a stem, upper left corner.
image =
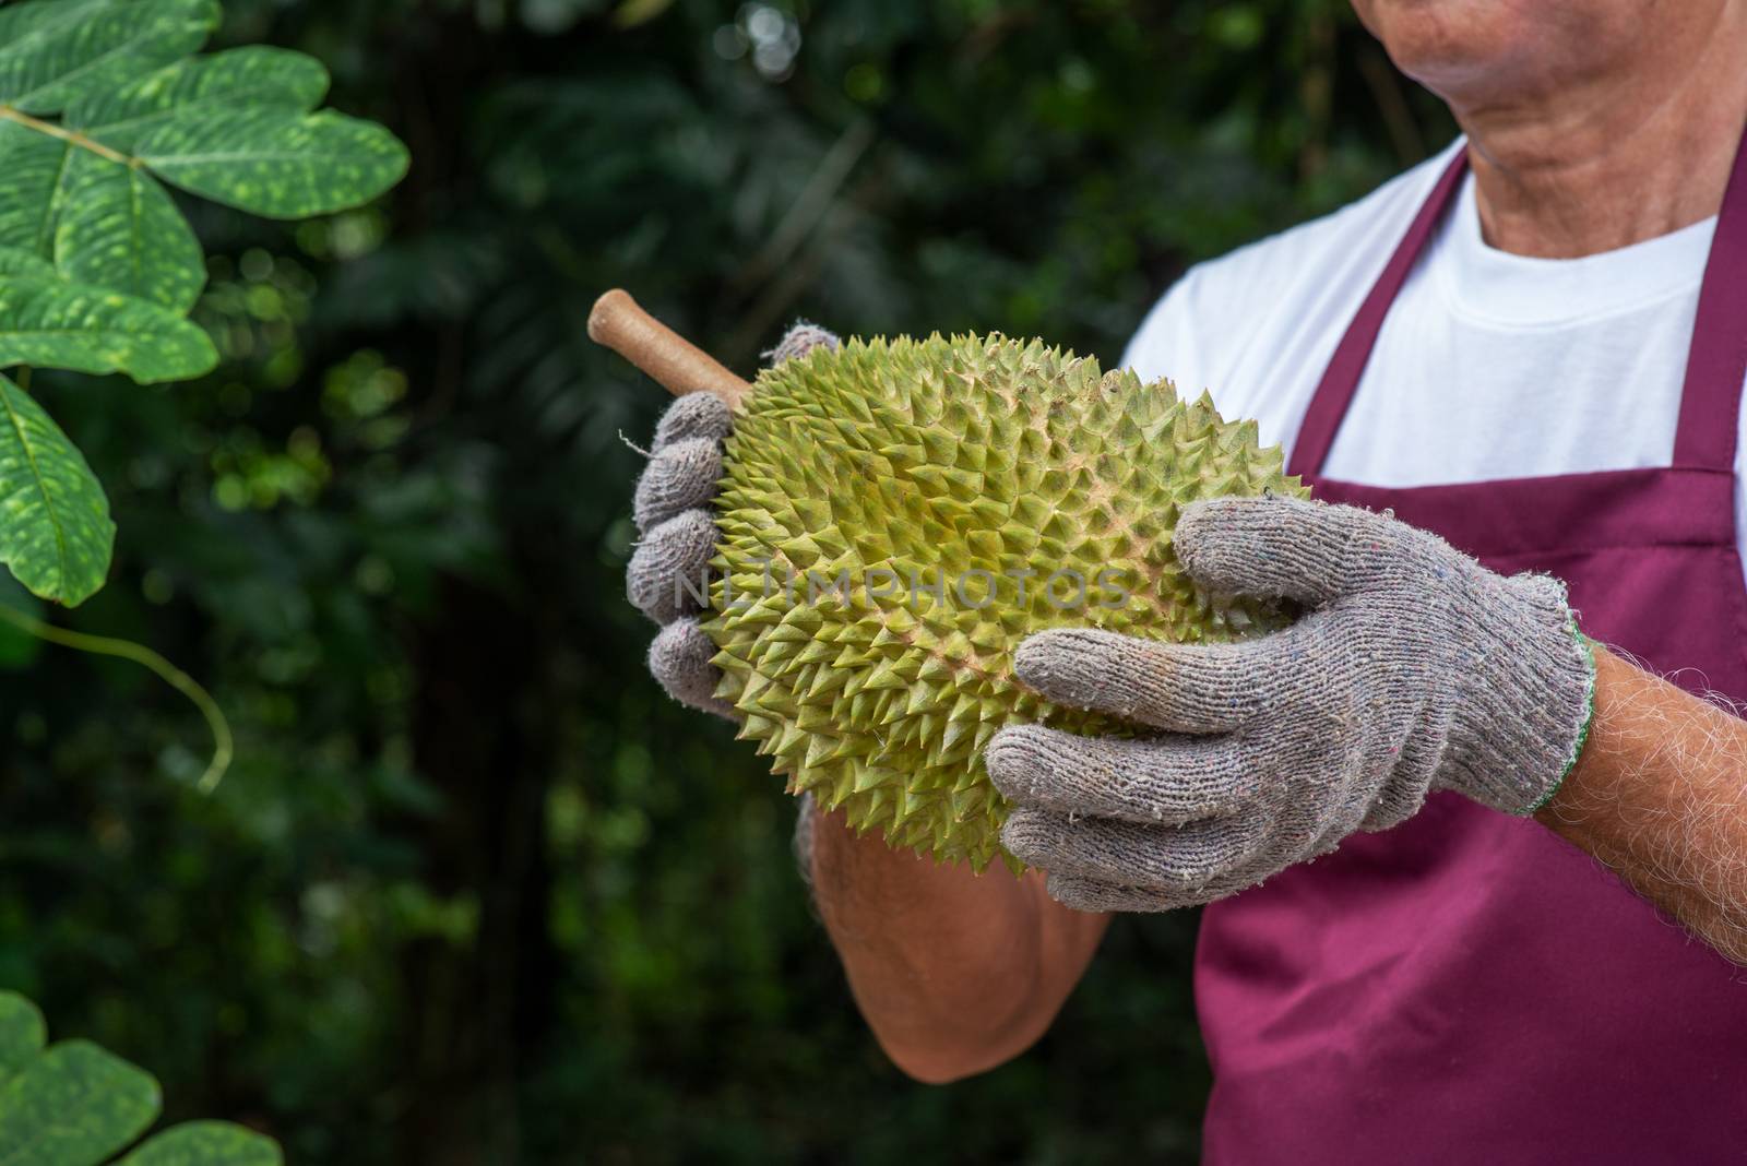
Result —
[[[369,202],[407,169],[381,126],[313,113],[314,58],[190,56],[217,0],[23,0],[0,9],[0,564],[84,602],[108,578],[103,487],[30,396],[31,370],[189,381],[218,367],[185,316],[201,244],[164,183],[273,218]],[[215,778],[222,766],[215,765]]]

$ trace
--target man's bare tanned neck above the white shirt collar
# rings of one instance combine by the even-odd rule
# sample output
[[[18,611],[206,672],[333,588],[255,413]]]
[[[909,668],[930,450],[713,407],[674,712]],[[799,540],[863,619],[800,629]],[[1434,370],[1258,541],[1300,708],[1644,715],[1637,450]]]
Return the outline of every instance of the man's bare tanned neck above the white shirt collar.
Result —
[[[1717,213],[1747,124],[1747,5],[1651,40],[1626,70],[1516,101],[1452,99],[1487,243],[1574,258]]]

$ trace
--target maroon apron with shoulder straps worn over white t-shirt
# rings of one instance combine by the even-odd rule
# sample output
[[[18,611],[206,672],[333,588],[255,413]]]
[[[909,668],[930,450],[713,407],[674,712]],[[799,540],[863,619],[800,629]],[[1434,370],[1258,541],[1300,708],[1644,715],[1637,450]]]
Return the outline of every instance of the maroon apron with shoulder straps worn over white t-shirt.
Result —
[[[1464,169],[1466,154],[1349,326],[1291,471],[1324,501],[1391,506],[1494,571],[1565,580],[1593,639],[1747,700],[1747,147],[1705,267],[1670,468],[1412,489],[1321,477]],[[1747,1161],[1747,972],[1544,826],[1452,792],[1209,906],[1195,991],[1214,1068],[1209,1163]]]

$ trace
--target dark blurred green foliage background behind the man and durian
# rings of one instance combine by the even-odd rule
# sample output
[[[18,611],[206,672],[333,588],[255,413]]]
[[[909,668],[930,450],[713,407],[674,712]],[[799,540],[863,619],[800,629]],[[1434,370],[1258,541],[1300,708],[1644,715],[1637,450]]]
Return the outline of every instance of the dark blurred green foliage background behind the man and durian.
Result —
[[[795,316],[1115,361],[1184,265],[1452,134],[1340,0],[229,0],[409,180],[299,227],[192,206],[224,367],[40,377],[121,524],[0,634],[0,986],[295,1163],[1193,1161],[1191,916],[1120,922],[1053,1033],[893,1070],[725,724],[622,599],[664,394],[632,288],[751,370]],[[16,590],[0,600],[26,606]]]

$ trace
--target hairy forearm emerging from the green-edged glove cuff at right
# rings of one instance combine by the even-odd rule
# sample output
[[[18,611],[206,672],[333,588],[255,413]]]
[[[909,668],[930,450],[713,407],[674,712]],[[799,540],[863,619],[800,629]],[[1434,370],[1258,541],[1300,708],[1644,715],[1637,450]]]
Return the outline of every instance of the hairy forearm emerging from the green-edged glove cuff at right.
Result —
[[[1747,964],[1747,723],[1602,649],[1578,766],[1536,817]]]

